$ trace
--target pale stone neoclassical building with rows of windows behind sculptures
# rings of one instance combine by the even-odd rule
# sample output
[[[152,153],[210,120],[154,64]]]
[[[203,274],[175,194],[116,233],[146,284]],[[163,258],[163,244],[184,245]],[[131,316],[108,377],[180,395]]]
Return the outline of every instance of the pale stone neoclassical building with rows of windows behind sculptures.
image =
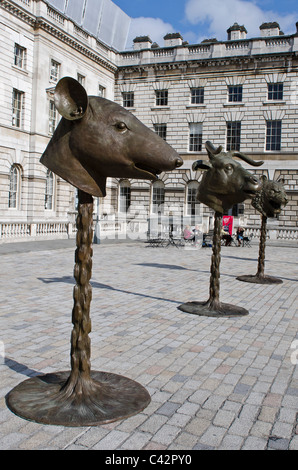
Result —
[[[263,160],[252,173],[284,178],[289,203],[269,234],[297,239],[297,32],[264,23],[247,38],[235,23],[226,41],[190,45],[169,33],[161,45],[137,37],[128,51],[130,19],[110,0],[0,0],[0,18],[0,243],[73,236],[76,190],[39,162],[59,120],[53,92],[63,76],[124,106],[184,160],[154,183],[110,179],[95,204],[101,236],[129,230],[136,238],[149,218],[169,215],[207,231],[213,214],[196,201],[202,175],[192,163],[207,158],[210,140]],[[249,201],[230,213],[257,234],[260,215]]]

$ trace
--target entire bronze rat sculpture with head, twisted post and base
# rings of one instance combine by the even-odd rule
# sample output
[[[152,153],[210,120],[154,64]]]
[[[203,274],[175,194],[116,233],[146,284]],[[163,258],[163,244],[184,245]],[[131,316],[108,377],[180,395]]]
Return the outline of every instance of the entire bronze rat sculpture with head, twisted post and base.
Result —
[[[183,161],[128,111],[102,98],[88,98],[74,79],[58,83],[55,103],[63,118],[41,161],[79,189],[71,370],[22,382],[9,392],[6,403],[18,416],[39,423],[96,426],[142,411],[151,398],[131,379],[91,371],[93,195],[105,195],[108,176],[154,180]]]

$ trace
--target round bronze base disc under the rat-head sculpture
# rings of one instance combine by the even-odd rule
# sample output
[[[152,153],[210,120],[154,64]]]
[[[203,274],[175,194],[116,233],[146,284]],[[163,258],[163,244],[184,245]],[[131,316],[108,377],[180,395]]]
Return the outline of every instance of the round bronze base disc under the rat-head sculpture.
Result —
[[[61,389],[69,375],[58,372],[25,380],[9,392],[6,404],[16,415],[37,423],[97,426],[133,416],[151,401],[142,385],[107,372],[91,372],[94,393],[66,397]]]

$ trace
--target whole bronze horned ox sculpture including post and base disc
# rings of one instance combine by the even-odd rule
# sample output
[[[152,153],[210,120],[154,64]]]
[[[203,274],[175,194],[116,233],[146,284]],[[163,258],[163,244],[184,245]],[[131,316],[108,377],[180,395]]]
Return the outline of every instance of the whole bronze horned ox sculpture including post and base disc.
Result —
[[[212,317],[247,315],[249,312],[246,309],[219,300],[222,214],[233,204],[252,198],[260,189],[259,180],[235,162],[233,157],[238,156],[254,166],[260,166],[263,162],[255,162],[240,152],[223,152],[221,146],[215,148],[211,142],[206,142],[206,150],[209,161],[194,162],[193,169],[207,170],[202,177],[197,199],[215,210],[209,299],[206,302],[186,302],[178,309]]]

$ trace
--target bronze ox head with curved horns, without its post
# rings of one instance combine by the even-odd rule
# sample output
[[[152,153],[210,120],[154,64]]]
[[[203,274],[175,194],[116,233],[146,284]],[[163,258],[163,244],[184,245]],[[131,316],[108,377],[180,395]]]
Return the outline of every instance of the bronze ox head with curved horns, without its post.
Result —
[[[233,157],[239,157],[253,166],[260,166],[241,152],[223,152],[222,146],[215,148],[211,142],[206,142],[209,161],[197,160],[193,170],[207,170],[202,177],[197,199],[216,212],[223,214],[234,204],[251,199],[260,189],[256,176],[244,169]]]

